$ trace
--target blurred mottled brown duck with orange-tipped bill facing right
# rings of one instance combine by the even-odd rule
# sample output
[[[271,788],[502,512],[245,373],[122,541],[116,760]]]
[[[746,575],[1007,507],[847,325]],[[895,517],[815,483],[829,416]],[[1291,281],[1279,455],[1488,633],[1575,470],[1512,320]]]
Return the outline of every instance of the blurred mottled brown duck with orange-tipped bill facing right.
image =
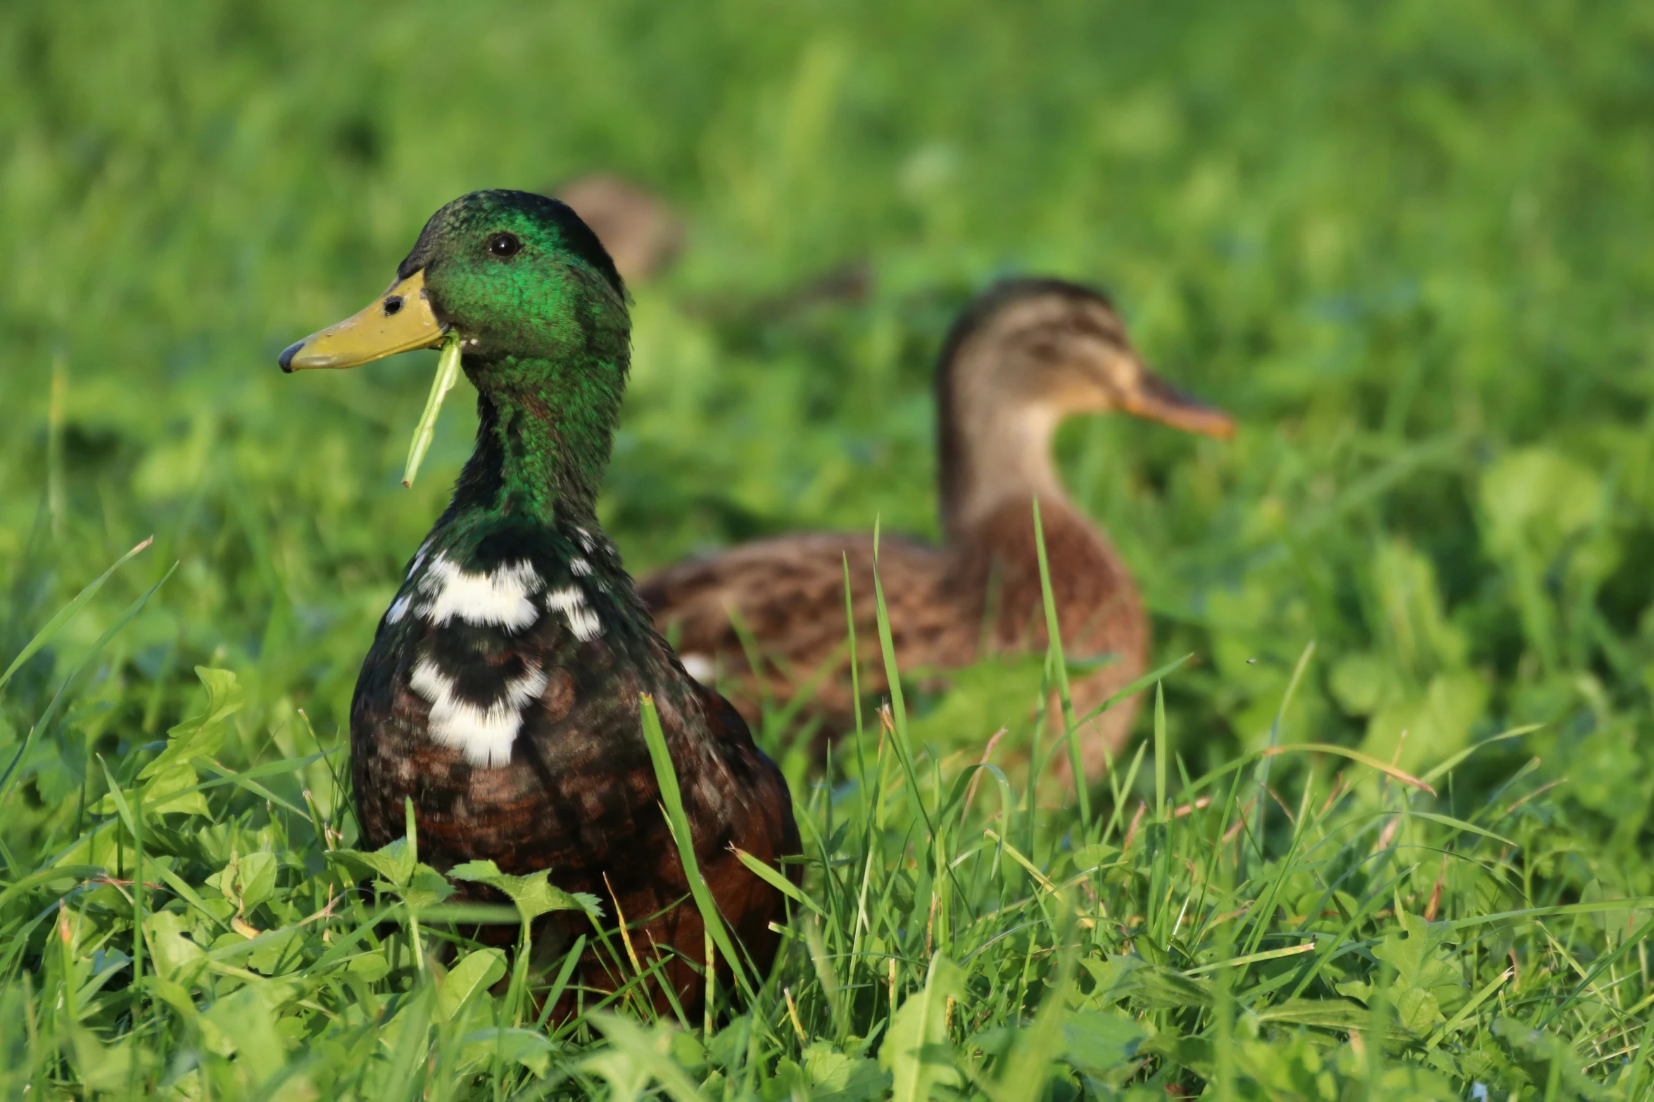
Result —
[[[847,568],[865,694],[888,692],[875,563],[901,669],[944,674],[992,654],[1044,653],[1035,499],[1065,654],[1093,659],[1070,686],[1075,715],[1148,669],[1151,629],[1136,582],[1064,491],[1052,438],[1078,415],[1131,413],[1214,438],[1229,438],[1234,420],[1156,375],[1103,291],[1037,276],[1002,279],[958,316],[936,363],[935,401],[939,545],[885,534],[875,555],[868,532],[791,534],[693,557],[638,585],[686,669],[724,687],[748,722],[761,720],[767,699],[829,737],[852,727]],[[1128,697],[1082,724],[1087,778],[1125,745],[1136,709]]]

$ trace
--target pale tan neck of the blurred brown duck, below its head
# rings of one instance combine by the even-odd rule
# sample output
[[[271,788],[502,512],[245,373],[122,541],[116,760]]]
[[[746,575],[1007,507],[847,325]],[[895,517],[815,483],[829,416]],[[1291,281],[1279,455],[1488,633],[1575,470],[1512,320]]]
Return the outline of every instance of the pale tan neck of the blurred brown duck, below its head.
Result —
[[[941,524],[949,540],[1009,501],[1065,502],[1050,459],[1062,413],[1001,385],[976,357],[954,363],[939,387]]]

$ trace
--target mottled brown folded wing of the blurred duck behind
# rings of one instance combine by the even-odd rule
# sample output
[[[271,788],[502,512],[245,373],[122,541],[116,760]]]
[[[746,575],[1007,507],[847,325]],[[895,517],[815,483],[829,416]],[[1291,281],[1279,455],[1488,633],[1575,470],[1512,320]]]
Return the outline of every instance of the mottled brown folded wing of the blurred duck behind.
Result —
[[[746,544],[647,577],[638,596],[691,676],[731,692],[756,720],[767,696],[807,696],[805,712],[830,727],[849,722],[845,568],[855,611],[863,692],[878,692],[883,664],[868,534],[810,534]],[[981,631],[981,595],[951,577],[953,557],[918,540],[885,535],[878,577],[903,666],[971,661]],[[744,638],[743,638],[744,636]],[[749,649],[756,651],[754,676]]]

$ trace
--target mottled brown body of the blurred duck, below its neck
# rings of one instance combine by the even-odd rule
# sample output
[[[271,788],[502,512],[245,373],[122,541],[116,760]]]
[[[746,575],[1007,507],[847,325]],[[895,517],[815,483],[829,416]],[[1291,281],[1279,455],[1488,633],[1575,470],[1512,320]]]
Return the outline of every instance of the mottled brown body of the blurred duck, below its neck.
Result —
[[[1146,669],[1150,626],[1136,585],[1108,540],[1072,506],[1042,502],[1052,595],[1070,659],[1115,661],[1072,684],[1083,715]],[[1032,507],[1012,499],[968,525],[949,547],[885,535],[878,573],[901,669],[953,669],[1002,653],[1044,651],[1045,611]],[[868,534],[810,534],[746,544],[667,568],[638,587],[691,672],[716,671],[734,705],[756,720],[762,699],[807,696],[804,712],[829,732],[853,722],[844,570],[849,563],[862,691],[883,692]],[[736,626],[739,625],[739,628]],[[759,654],[754,677],[741,633]],[[1121,702],[1082,735],[1088,773],[1125,742],[1136,702]],[[1011,717],[1007,717],[1011,719]]]

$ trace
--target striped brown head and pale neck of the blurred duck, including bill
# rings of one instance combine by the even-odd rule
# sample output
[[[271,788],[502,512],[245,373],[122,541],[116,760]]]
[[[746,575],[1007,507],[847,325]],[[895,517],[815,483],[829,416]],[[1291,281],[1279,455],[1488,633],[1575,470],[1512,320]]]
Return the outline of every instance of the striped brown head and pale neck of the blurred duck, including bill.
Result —
[[[938,363],[936,406],[954,534],[1007,496],[1060,496],[1050,438],[1068,416],[1118,411],[1234,435],[1227,413],[1150,370],[1105,294],[1062,279],[1007,279],[964,309]]]

